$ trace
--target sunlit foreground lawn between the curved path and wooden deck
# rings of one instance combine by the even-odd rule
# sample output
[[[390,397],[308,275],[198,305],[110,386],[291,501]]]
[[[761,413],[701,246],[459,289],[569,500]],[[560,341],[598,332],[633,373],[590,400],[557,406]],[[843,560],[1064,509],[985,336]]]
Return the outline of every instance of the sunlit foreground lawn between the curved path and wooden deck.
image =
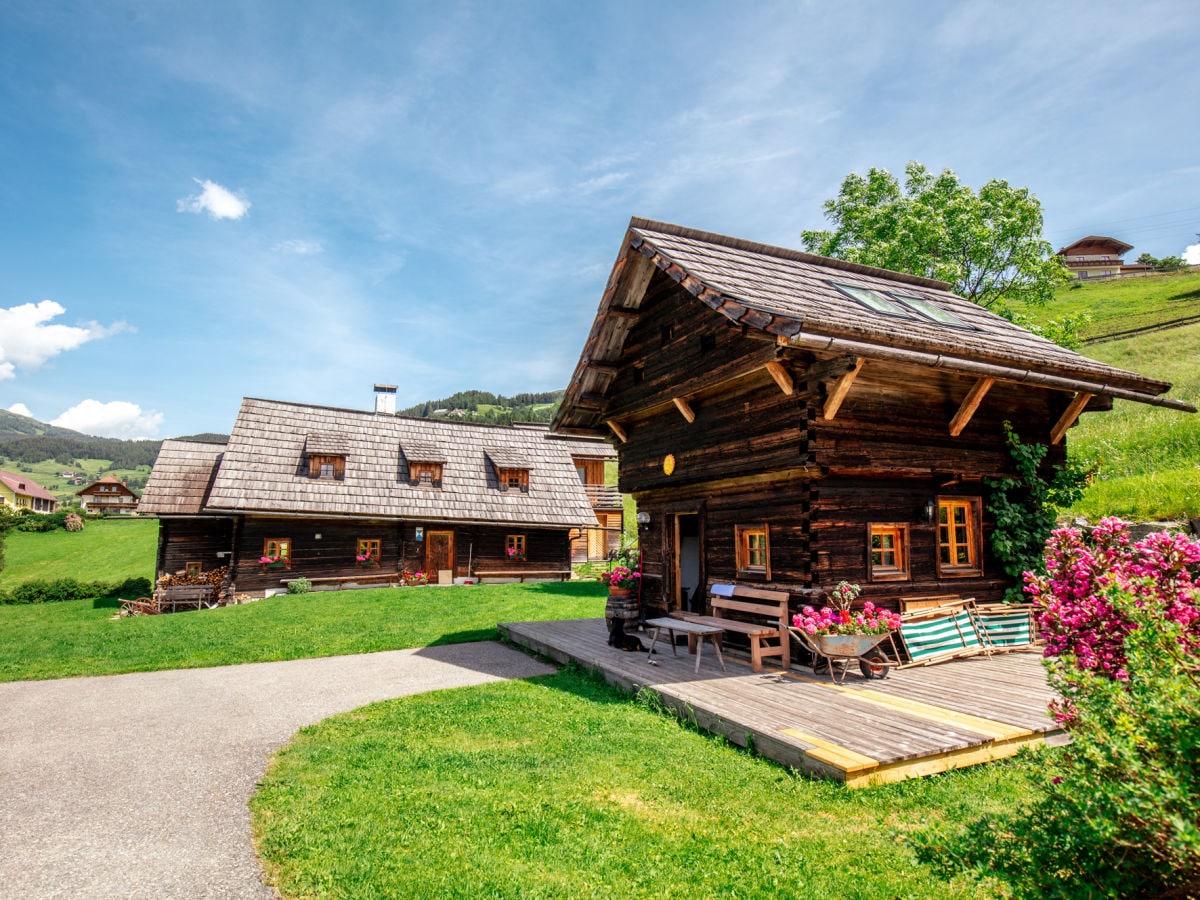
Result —
[[[590,676],[404,697],[304,728],[251,802],[284,896],[986,896],[906,832],[1010,809],[1022,767],[847,791]]]

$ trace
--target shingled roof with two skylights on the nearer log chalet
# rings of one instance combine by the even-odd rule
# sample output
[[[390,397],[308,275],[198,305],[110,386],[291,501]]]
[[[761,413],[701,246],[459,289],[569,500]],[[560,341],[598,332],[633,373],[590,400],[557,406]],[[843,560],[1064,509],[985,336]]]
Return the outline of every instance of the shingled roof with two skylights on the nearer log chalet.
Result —
[[[656,270],[697,304],[782,346],[1195,412],[1189,403],[1159,396],[1170,384],[1060,347],[954,294],[943,282],[634,218],[554,419],[556,430],[589,431],[600,424],[596,401],[616,378],[625,337]],[[835,283],[916,296],[965,326],[920,314],[883,314],[856,302]]]

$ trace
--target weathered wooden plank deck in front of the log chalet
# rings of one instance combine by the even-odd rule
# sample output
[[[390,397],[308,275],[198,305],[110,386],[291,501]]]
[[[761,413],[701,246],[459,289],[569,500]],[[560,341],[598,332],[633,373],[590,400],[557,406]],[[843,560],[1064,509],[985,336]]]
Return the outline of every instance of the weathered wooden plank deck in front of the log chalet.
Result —
[[[703,654],[700,672],[686,646],[661,642],[646,653],[607,646],[604,619],[504,623],[514,643],[559,662],[574,661],[626,690],[649,689],[682,715],[739,746],[815,775],[862,787],[931,775],[1060,744],[1046,713],[1054,696],[1037,653],[1004,653],[899,670],[865,680],[857,666],[836,685],[828,674],[792,667],[754,673],[726,653],[727,672]],[[642,636],[649,647],[649,637]]]

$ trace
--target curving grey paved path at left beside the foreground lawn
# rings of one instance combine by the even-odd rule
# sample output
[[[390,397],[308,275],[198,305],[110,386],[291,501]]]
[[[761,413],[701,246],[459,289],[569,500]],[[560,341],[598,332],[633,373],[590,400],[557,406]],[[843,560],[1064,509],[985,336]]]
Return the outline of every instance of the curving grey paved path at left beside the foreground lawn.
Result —
[[[246,804],[298,728],[552,671],[485,642],[0,684],[0,898],[272,898]]]

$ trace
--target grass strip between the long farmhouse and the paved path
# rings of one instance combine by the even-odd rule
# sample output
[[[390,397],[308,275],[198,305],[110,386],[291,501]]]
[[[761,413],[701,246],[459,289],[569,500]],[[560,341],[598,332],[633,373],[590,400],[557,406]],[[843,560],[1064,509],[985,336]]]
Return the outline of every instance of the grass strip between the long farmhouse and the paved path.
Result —
[[[604,616],[600,582],[372,588],[114,619],[115,602],[0,606],[0,680],[337,656],[497,636],[499,622]]]

